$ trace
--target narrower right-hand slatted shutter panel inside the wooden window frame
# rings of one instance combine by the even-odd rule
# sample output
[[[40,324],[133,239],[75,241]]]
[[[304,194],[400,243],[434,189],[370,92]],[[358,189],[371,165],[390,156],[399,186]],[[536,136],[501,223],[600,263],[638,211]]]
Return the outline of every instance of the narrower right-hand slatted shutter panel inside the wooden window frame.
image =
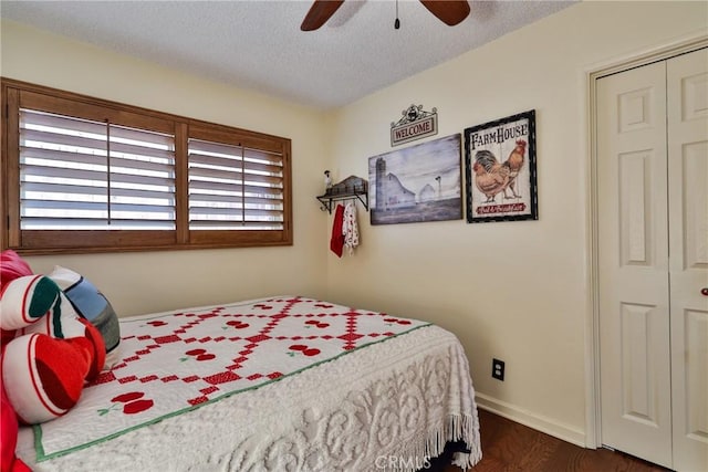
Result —
[[[282,230],[283,156],[189,139],[190,230]]]

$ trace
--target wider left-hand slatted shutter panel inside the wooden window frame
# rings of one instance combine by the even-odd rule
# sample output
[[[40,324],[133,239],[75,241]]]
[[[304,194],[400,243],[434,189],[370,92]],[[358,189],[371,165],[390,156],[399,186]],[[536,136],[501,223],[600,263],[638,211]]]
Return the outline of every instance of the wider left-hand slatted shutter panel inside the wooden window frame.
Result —
[[[174,230],[175,137],[20,109],[22,230]]]

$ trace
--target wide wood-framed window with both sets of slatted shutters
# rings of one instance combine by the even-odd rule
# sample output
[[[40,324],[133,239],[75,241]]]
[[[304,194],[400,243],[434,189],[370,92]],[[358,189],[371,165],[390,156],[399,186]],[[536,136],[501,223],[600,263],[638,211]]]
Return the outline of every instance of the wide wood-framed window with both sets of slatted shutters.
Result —
[[[2,81],[3,248],[292,244],[290,139]]]

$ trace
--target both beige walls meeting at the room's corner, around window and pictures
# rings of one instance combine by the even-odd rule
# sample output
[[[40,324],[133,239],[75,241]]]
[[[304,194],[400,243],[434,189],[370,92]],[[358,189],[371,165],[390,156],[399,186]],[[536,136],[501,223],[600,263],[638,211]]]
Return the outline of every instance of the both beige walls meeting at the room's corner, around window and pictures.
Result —
[[[3,76],[293,140],[293,248],[34,256],[30,263],[38,272],[59,263],[85,273],[126,315],[302,293],[430,319],[461,339],[487,405],[583,443],[585,73],[706,34],[707,15],[705,2],[577,4],[333,116],[3,22]],[[410,103],[438,108],[437,137],[534,108],[540,220],[369,227],[360,211],[356,254],[329,252],[332,220],[313,198],[322,170],[332,169],[335,181],[367,178],[368,157],[391,150],[389,123]],[[507,361],[504,382],[490,378],[492,357]]]

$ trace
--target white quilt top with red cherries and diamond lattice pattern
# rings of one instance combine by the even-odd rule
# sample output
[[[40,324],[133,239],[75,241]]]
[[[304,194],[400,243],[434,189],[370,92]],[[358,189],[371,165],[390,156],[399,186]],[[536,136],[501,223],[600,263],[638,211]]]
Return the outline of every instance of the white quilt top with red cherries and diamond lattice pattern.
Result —
[[[123,361],[87,386],[69,415],[35,428],[38,457],[84,448],[426,325],[304,297],[122,319]],[[59,438],[72,423],[92,427]]]

